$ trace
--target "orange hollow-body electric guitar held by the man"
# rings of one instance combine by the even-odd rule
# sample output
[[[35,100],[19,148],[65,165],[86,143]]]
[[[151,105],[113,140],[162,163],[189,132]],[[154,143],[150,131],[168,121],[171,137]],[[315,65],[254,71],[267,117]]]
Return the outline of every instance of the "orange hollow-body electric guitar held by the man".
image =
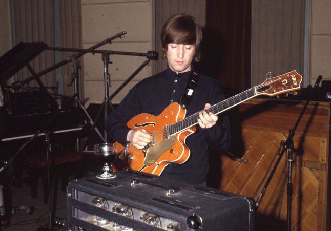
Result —
[[[301,81],[302,76],[296,71],[268,78],[260,85],[216,103],[206,111],[217,115],[257,95],[275,96],[299,90]],[[130,119],[128,128],[145,129],[153,139],[140,150],[131,143],[124,147],[116,142],[119,152],[114,161],[114,171],[129,167],[159,176],[168,164],[187,161],[190,149],[185,145],[185,139],[196,131],[199,112],[187,118],[185,113],[186,110],[178,103],[172,103],[158,116],[142,113]]]

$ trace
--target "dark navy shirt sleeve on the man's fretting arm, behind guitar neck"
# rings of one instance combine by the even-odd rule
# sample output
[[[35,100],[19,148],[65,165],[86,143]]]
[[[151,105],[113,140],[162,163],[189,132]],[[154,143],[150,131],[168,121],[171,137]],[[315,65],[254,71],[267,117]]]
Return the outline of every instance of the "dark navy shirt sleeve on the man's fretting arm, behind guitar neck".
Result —
[[[214,87],[209,92],[208,101],[211,105],[221,102],[224,100],[224,94],[221,85],[216,81]],[[218,120],[216,124],[209,129],[201,129],[206,137],[206,142],[210,148],[218,152],[225,152],[230,147],[230,122],[229,116],[225,113],[218,114]]]

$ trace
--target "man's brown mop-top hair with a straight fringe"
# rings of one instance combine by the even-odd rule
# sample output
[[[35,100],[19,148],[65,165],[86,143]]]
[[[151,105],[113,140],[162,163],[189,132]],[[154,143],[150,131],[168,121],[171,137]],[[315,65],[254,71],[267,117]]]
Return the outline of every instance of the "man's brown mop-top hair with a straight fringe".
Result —
[[[195,61],[200,60],[200,43],[202,31],[194,17],[186,14],[176,14],[171,16],[163,25],[161,31],[161,43],[164,56],[166,55],[168,44],[193,44],[196,49]]]

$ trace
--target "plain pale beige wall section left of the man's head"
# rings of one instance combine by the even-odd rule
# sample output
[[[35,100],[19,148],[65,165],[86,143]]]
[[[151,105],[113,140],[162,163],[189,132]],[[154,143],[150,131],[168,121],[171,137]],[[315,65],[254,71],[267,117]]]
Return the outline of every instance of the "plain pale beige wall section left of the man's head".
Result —
[[[155,50],[154,1],[84,0],[82,1],[83,48],[89,48],[113,35],[126,31],[122,38],[99,49],[143,52]],[[146,60],[144,57],[110,55],[110,95]],[[154,61],[144,67],[112,100],[119,103],[136,83],[154,74]],[[88,103],[102,102],[105,95],[104,64],[101,54],[84,55],[84,92]]]

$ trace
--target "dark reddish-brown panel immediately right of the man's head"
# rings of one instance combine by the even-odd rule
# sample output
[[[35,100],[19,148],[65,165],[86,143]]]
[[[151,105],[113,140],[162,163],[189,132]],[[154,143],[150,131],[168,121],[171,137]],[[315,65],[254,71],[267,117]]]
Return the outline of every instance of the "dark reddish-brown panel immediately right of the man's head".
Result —
[[[251,0],[206,0],[200,72],[220,80],[226,95],[251,85]]]

